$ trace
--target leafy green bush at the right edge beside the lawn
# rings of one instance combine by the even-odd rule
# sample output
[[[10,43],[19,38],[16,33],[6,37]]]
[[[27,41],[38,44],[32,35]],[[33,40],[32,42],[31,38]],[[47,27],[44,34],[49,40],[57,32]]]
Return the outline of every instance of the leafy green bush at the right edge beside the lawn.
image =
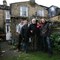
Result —
[[[57,51],[60,51],[60,32],[54,32],[51,35],[53,41],[53,48]]]

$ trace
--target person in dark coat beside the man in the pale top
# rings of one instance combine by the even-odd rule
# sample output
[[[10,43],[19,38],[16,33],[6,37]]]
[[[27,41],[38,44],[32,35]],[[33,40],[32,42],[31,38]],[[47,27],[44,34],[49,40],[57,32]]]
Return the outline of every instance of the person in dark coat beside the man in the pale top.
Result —
[[[22,42],[23,47],[22,47],[22,49],[25,52],[28,52],[29,37],[28,37],[28,21],[27,20],[24,20],[24,26],[21,29],[21,34],[22,34],[22,37],[23,37],[23,42]]]

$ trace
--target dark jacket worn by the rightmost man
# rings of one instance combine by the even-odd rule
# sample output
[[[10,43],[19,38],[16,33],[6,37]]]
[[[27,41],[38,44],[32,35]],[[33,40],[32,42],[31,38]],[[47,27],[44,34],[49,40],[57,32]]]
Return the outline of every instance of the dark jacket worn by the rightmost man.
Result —
[[[48,36],[50,35],[50,27],[49,27],[49,23],[46,22],[42,25],[42,27],[40,28],[40,35],[41,36]]]

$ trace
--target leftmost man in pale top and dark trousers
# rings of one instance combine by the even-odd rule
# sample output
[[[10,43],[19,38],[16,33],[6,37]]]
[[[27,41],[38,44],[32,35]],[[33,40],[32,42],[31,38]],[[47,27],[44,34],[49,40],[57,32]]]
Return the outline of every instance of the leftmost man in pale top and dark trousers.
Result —
[[[16,32],[19,35],[19,38],[18,38],[18,47],[17,47],[18,51],[21,50],[21,42],[22,42],[21,28],[23,27],[23,25],[24,25],[23,20],[21,20],[20,23],[16,27]]]

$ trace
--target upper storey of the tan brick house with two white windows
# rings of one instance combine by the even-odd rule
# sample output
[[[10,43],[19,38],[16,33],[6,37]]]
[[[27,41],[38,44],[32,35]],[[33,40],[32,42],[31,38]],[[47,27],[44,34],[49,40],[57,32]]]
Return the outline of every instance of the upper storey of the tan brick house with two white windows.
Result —
[[[47,7],[37,3],[17,2],[11,4],[11,17],[31,17],[37,13],[38,16],[47,17]]]

